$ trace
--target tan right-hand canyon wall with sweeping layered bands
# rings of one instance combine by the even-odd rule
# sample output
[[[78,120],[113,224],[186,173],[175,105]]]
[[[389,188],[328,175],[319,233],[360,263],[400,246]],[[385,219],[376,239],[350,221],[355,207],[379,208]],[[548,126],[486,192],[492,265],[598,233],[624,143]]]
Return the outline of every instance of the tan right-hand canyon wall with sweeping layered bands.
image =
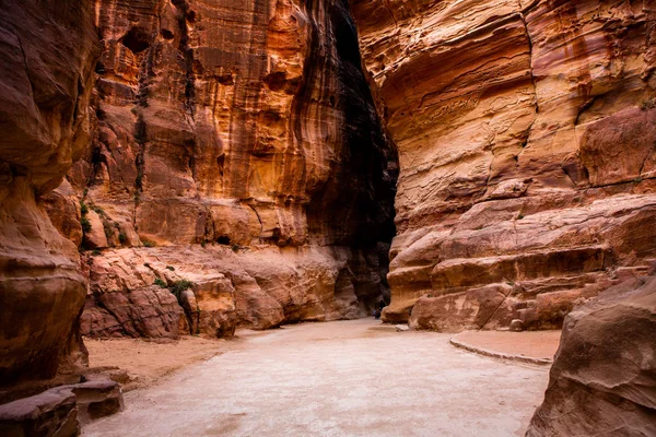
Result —
[[[653,1],[351,10],[399,153],[384,320],[412,311],[415,328],[557,328],[574,303],[646,271]]]

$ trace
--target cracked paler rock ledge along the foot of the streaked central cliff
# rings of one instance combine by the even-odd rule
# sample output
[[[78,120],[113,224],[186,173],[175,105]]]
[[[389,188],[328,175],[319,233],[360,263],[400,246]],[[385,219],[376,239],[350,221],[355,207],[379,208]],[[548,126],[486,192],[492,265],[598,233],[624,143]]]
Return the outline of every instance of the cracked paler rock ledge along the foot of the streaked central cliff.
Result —
[[[237,324],[267,329],[358,318],[380,296],[379,277],[372,276],[376,264],[343,247],[131,248],[89,256],[85,265],[85,335],[229,336]]]

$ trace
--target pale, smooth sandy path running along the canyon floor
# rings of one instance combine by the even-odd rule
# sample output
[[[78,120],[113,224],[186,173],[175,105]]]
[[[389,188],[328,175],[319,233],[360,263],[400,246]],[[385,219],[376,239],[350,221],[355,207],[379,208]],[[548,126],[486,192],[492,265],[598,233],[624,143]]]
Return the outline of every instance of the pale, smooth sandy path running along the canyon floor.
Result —
[[[86,436],[519,436],[548,370],[374,320],[248,333],[126,394]]]

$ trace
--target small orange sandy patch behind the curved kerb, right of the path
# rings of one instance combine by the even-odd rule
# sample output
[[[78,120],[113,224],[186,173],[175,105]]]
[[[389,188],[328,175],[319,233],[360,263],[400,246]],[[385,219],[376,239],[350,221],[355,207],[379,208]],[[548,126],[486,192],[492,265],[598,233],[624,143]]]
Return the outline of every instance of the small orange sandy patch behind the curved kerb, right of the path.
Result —
[[[465,331],[449,343],[479,355],[549,366],[558,351],[561,331]]]

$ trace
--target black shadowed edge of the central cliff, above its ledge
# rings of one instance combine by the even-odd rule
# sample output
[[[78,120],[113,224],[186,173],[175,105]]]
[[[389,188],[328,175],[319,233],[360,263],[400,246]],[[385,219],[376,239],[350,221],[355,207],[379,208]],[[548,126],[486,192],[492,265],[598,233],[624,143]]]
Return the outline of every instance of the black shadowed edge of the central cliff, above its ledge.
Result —
[[[313,90],[326,90],[318,101],[336,107],[344,120],[343,145],[338,150],[339,157],[330,163],[331,177],[313,193],[307,208],[309,231],[335,235],[332,244],[358,248],[372,248],[377,241],[390,243],[396,234],[394,198],[398,161],[376,115],[348,4],[325,7],[307,1],[305,7],[312,23],[308,44],[312,51],[293,111],[296,137],[301,138],[303,132],[304,113]],[[324,7],[328,10],[320,11]],[[317,23],[319,17],[325,22]],[[330,51],[321,47],[319,28],[323,27],[332,29],[337,62],[331,62]],[[339,78],[337,93],[324,86],[323,82],[330,76]],[[331,214],[326,214],[327,210]]]

